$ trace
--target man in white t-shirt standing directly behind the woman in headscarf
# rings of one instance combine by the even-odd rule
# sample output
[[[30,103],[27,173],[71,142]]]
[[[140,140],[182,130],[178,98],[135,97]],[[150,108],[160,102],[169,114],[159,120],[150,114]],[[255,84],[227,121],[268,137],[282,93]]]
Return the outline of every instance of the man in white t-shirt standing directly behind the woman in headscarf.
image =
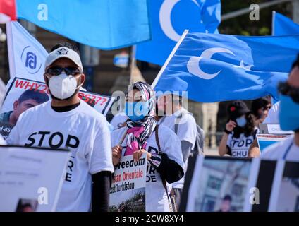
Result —
[[[183,161],[185,163],[185,172],[188,165],[188,157],[191,150],[195,148],[197,137],[197,124],[194,117],[182,107],[181,97],[173,94],[161,95],[158,99],[157,107],[164,111],[164,117],[161,117],[159,124],[168,126],[176,133],[181,141]],[[185,177],[172,184],[171,194],[175,196],[176,208],[181,201]]]

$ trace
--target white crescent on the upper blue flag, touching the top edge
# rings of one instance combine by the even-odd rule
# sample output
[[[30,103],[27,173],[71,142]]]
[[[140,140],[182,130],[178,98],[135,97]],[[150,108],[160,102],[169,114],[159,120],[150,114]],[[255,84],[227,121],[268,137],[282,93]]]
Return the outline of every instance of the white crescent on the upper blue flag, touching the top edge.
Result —
[[[159,21],[161,25],[161,29],[164,34],[169,37],[174,42],[178,42],[180,40],[181,35],[178,35],[176,30],[174,30],[172,23],[171,23],[171,11],[173,7],[178,3],[180,0],[165,0],[161,4],[161,8],[159,11]],[[198,7],[200,5],[197,3],[196,0],[192,0]],[[186,28],[188,29],[188,28]]]

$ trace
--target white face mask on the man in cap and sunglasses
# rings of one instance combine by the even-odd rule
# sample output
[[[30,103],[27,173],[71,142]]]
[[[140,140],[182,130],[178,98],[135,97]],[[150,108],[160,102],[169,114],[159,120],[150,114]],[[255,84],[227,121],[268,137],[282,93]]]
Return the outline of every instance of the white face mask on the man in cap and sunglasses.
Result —
[[[51,94],[59,100],[65,100],[71,97],[75,93],[75,90],[81,85],[77,86],[76,78],[74,76],[68,76],[66,73],[61,73],[58,76],[51,76],[51,78],[49,78],[49,90]]]

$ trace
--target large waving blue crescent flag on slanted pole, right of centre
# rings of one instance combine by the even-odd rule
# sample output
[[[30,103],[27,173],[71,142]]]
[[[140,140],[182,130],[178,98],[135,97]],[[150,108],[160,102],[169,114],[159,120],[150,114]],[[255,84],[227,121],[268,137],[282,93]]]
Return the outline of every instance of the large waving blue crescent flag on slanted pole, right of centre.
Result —
[[[188,91],[197,102],[277,99],[277,83],[286,80],[298,53],[299,35],[188,33],[154,89]]]

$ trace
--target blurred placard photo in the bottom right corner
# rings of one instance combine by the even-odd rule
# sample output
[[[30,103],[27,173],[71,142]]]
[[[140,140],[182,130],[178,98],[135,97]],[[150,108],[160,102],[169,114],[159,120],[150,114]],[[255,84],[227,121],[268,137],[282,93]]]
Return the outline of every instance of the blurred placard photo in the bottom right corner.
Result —
[[[269,211],[299,212],[299,162],[278,161]]]

